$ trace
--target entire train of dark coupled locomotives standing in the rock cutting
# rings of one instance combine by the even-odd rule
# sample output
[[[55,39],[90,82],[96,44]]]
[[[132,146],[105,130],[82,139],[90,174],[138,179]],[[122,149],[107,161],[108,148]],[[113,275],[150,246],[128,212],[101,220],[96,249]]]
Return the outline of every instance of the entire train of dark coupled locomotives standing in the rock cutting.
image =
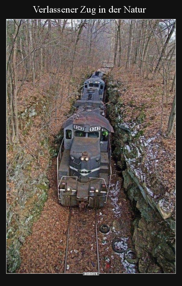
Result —
[[[103,207],[111,180],[110,136],[104,117],[104,73],[86,79],[76,113],[63,124],[64,138],[57,156],[58,199],[63,206]]]

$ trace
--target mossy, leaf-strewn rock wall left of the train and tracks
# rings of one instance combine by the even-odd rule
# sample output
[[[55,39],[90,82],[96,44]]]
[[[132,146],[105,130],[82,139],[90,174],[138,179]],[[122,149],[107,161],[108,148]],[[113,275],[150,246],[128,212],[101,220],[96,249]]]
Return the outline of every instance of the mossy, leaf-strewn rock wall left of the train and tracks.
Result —
[[[34,118],[42,118],[46,102],[37,102],[21,114],[22,129],[28,136],[34,125]],[[27,153],[21,146],[9,146],[15,156],[9,164],[7,176],[7,272],[14,273],[21,264],[20,247],[31,234],[33,223],[39,218],[47,199],[49,181],[46,176],[49,167],[49,146],[46,130],[42,129],[40,146],[36,154]],[[39,163],[44,158],[44,164]],[[40,159],[41,160],[41,159]]]

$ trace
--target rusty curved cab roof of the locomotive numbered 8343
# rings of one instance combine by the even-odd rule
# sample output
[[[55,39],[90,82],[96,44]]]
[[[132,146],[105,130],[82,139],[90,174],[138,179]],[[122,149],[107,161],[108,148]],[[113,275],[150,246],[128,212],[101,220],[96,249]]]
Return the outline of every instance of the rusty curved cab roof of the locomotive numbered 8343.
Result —
[[[79,114],[74,114],[64,122],[63,128],[66,128],[71,124],[89,124],[93,126],[99,125],[107,129],[109,132],[114,132],[113,127],[109,123],[109,120],[95,112],[81,112]]]

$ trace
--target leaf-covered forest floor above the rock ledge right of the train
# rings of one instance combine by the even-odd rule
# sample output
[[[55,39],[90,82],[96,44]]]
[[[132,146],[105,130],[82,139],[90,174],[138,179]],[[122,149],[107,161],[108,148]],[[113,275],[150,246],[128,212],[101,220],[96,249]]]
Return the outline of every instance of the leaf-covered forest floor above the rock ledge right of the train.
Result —
[[[154,199],[165,198],[168,206],[175,207],[175,126],[172,136],[166,137],[168,118],[174,92],[170,92],[172,80],[166,85],[169,91],[163,95],[164,84],[160,75],[149,75],[149,79],[134,72],[115,68],[112,71],[116,81],[124,84],[119,90],[123,126],[132,130],[132,136],[140,134],[144,145],[142,163],[135,173],[152,190]],[[166,91],[166,90],[165,90]],[[162,107],[163,101],[163,107]],[[139,153],[140,157],[140,153]]]

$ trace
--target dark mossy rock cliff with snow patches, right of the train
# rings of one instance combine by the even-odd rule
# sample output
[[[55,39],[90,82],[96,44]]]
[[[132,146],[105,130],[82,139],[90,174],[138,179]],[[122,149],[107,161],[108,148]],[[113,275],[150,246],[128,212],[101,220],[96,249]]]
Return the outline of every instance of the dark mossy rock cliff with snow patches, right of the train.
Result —
[[[118,92],[120,91],[120,92]],[[136,213],[133,221],[133,244],[139,257],[140,273],[175,272],[175,222],[172,217],[174,206],[166,193],[156,195],[149,180],[148,169],[142,169],[145,160],[146,141],[143,131],[137,128],[144,121],[142,110],[138,122],[125,122],[121,114],[121,82],[108,79],[108,117],[114,127],[113,155],[123,170],[124,187]],[[135,128],[133,128],[135,127]]]

